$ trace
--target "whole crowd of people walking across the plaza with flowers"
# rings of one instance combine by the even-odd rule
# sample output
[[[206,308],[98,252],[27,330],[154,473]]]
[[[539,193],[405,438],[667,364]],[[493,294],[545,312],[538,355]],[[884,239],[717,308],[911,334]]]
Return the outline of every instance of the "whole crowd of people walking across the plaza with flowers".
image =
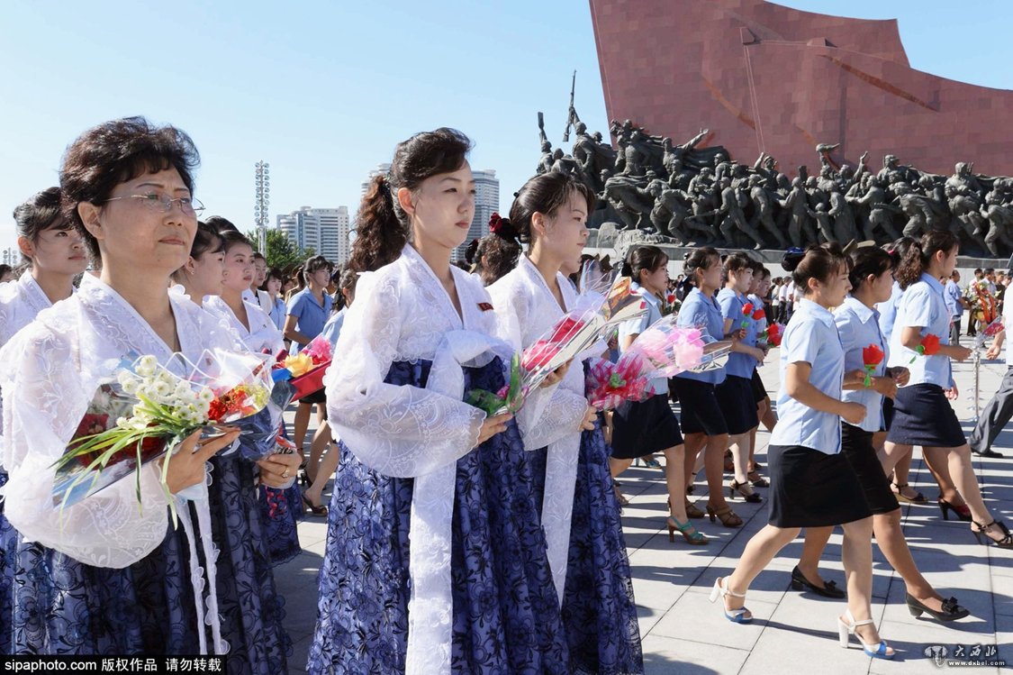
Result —
[[[363,198],[346,266],[313,256],[298,271],[268,269],[227,219],[199,220],[199,155],[180,130],[115,120],[68,147],[60,185],[15,210],[25,269],[0,285],[0,652],[227,654],[229,672],[287,672],[274,570],[300,551],[305,508],[327,518],[311,673],[642,673],[619,479],[638,459],[659,465],[655,454],[673,542],[720,536],[694,523],[704,517],[742,526],[726,490],[769,505],[770,524],[711,594],[729,620],[753,619],[751,583],[801,528],[793,586],[847,597],[842,646],[854,634],[870,656],[893,656],[870,615],[873,536],[913,614],[968,614],[919,572],[899,506],[925,501],[907,484],[921,446],[943,517],[1013,547],[947,400],[951,360],[971,353],[952,339],[941,283],[954,235],[792,249],[790,277],[774,280],[743,252],[697,247],[673,282],[660,248],[634,247],[621,273],[643,315],[527,392],[516,416],[492,415],[464,394],[503,388],[514,355],[580,304],[573,279],[597,197],[564,172],[532,177],[462,269],[451,259],[474,215],[470,147],[446,128],[399,144]],[[977,306],[999,288],[976,286]],[[588,369],[676,311],[678,326],[726,347],[727,362],[656,378],[612,413],[590,404]],[[775,406],[758,367],[777,320],[787,327]],[[170,463],[54,506],[54,463],[110,364],[150,355],[179,371],[174,355],[294,354],[319,335],[333,349],[325,386],[299,400],[278,452],[246,459],[238,429],[199,431]],[[1013,415],[1007,354],[1010,373],[976,430],[980,454]],[[766,476],[761,424],[772,432]],[[704,510],[690,499],[701,468]],[[846,590],[819,572],[837,525]]]

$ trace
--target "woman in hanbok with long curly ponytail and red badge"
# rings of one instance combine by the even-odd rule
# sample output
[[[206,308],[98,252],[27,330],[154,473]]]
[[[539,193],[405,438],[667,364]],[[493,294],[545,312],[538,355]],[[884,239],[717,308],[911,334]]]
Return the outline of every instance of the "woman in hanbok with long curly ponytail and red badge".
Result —
[[[511,354],[450,264],[475,210],[469,146],[405,141],[360,210],[349,267],[375,272],[326,378],[341,456],[310,673],[569,672],[517,426],[463,400],[498,390]]]

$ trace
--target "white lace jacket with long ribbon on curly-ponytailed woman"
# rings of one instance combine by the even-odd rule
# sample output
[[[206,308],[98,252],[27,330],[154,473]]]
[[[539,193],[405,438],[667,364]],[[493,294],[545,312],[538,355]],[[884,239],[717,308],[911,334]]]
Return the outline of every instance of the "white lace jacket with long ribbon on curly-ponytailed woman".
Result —
[[[335,437],[370,468],[414,477],[409,560],[408,673],[449,673],[451,537],[457,460],[475,447],[485,414],[463,401],[463,367],[509,360],[492,338],[495,317],[476,277],[451,267],[462,315],[410,245],[362,275],[327,372]],[[433,362],[426,387],[384,383],[394,362]]]

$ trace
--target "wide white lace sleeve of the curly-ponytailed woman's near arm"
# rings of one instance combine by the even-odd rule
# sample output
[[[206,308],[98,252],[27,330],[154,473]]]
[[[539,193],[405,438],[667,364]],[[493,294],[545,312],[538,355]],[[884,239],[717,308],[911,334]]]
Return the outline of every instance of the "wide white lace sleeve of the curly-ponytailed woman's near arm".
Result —
[[[383,274],[383,273],[379,273]],[[327,413],[336,437],[368,466],[388,475],[428,473],[467,454],[485,414],[434,391],[384,383],[397,360],[402,311],[396,275],[363,275],[327,371]]]

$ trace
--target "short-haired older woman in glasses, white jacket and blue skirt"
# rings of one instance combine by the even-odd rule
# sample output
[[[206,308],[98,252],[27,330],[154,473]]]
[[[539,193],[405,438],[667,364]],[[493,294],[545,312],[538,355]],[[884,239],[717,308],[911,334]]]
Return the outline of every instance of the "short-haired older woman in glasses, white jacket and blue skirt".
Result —
[[[73,298],[43,312],[0,353],[0,385],[11,392],[4,497],[15,528],[3,539],[15,555],[5,629],[17,652],[223,654],[231,647],[230,672],[287,670],[269,569],[255,577],[215,565],[215,542],[196,536],[197,529],[208,532],[206,499],[202,506],[201,499],[176,497],[183,527],[172,530],[157,462],[141,469],[140,509],[132,479],[62,513],[51,496],[53,463],[112,364],[134,352],[181,369],[175,353],[196,360],[206,349],[234,347],[218,320],[168,292],[197,230],[197,161],[185,134],[141,118],[86,132],[64,159],[65,213],[102,270],[86,275]],[[231,431],[207,442],[200,434],[186,439],[168,467],[169,492],[206,493],[208,460],[236,437]],[[263,602],[232,604],[230,587],[253,587]]]

